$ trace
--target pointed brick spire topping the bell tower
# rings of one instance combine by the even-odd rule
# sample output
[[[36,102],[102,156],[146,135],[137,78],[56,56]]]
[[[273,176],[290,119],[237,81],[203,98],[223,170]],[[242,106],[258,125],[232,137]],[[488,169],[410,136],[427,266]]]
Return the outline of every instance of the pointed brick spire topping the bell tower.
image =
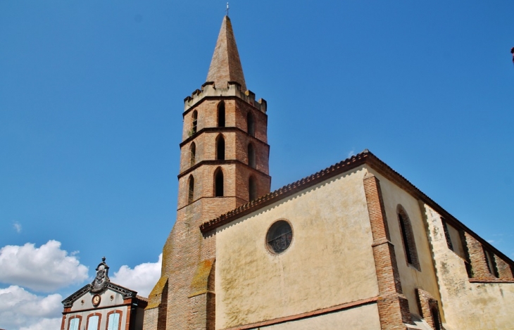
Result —
[[[242,91],[246,91],[243,68],[241,60],[239,60],[232,23],[230,23],[228,16],[225,16],[221,23],[218,42],[216,42],[211,67],[207,74],[207,81],[214,82],[218,88],[227,88],[227,82],[239,82]]]

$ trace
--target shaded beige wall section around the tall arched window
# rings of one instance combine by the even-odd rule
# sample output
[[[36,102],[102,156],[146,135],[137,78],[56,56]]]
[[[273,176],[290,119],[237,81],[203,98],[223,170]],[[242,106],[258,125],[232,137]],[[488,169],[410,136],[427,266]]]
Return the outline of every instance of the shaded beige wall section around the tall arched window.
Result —
[[[437,279],[432,262],[432,253],[430,251],[427,231],[425,229],[425,222],[422,219],[420,205],[418,200],[410,195],[410,193],[407,193],[371,167],[369,167],[369,170],[375,174],[378,179],[380,179],[382,196],[384,198],[384,208],[386,211],[387,223],[389,224],[389,234],[391,234],[391,243],[393,243],[394,253],[396,253],[403,294],[408,299],[410,312],[420,315],[421,313],[418,309],[418,298],[416,298],[415,295],[415,288],[422,288],[429,292],[436,300],[441,300],[439,298],[439,288],[437,287]],[[415,246],[418,250],[420,271],[415,269],[412,265],[408,265],[406,260],[398,215],[396,213],[399,204],[406,210],[410,223],[412,224]],[[442,314],[444,313],[441,313],[441,318],[444,320],[444,315]]]

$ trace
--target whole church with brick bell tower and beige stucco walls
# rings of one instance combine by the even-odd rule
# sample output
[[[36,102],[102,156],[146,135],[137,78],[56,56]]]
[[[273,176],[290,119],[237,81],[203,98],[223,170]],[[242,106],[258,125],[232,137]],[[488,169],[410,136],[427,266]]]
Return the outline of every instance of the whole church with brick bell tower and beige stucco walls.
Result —
[[[144,330],[514,329],[513,260],[370,151],[270,192],[266,111],[225,16]]]

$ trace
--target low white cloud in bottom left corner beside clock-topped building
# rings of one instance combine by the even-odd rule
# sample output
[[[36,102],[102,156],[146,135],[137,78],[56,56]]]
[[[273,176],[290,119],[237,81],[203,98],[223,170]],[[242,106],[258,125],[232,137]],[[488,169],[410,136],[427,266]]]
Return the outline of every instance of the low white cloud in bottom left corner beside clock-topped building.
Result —
[[[9,330],[59,329],[60,294],[36,296],[20,286],[0,288],[0,327]]]

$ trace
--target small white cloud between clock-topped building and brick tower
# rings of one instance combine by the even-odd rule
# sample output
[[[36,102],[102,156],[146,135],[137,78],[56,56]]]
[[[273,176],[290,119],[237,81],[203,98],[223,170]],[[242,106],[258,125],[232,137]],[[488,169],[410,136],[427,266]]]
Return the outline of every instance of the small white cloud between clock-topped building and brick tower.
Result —
[[[111,281],[120,286],[125,286],[126,288],[137,291],[139,296],[148,297],[151,289],[161,277],[162,262],[163,254],[161,253],[157,262],[145,262],[141,265],[137,265],[134,269],[123,265],[118,272],[114,272]]]

